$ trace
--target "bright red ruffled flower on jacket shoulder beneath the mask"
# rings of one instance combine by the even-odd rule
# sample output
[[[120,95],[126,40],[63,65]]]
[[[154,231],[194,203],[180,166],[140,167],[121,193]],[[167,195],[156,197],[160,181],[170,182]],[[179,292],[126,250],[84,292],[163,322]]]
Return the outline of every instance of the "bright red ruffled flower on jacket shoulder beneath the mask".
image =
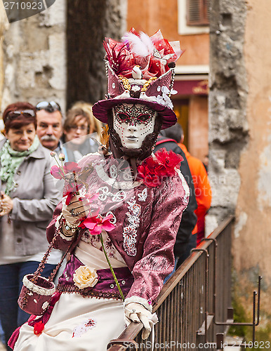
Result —
[[[138,178],[142,179],[147,187],[157,187],[163,178],[176,174],[183,157],[165,148],[156,152],[154,157],[148,157],[138,166]]]

